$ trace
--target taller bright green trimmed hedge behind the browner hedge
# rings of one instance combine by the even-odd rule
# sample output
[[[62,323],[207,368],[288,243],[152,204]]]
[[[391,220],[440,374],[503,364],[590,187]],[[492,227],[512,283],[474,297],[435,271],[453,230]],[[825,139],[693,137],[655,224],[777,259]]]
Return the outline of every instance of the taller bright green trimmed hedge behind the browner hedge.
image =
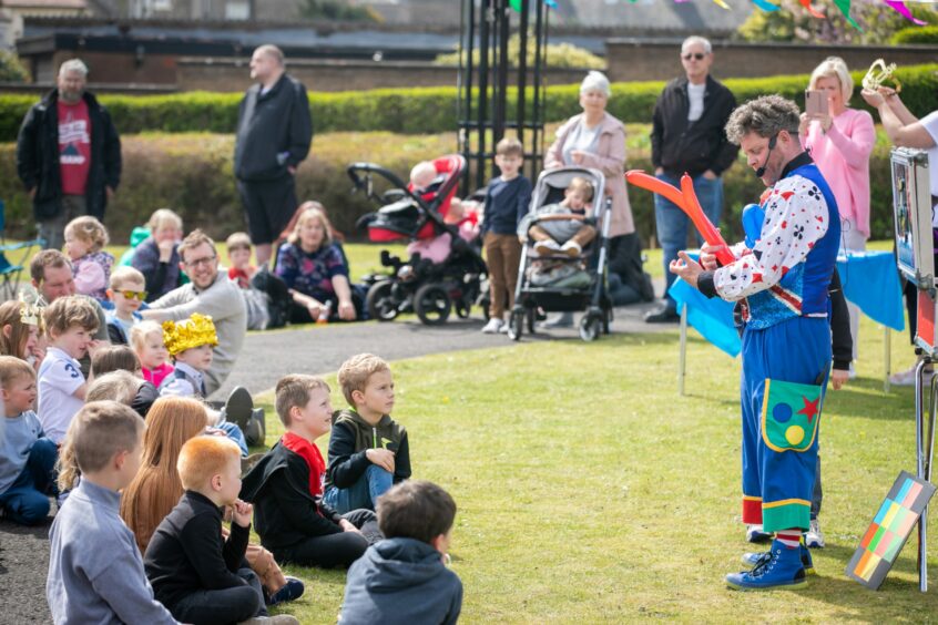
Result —
[[[903,101],[909,110],[924,115],[935,109],[938,64],[903,68],[897,72],[903,83]],[[865,107],[859,98],[861,72],[855,72],[855,106]],[[765,93],[779,93],[804,104],[807,75],[764,79],[728,79],[726,85],[744,102]],[[651,121],[654,102],[663,82],[630,82],[612,85],[609,111],[626,123]],[[509,91],[513,110],[516,91]],[[174,95],[102,95],[121,134],[140,132],[230,133],[235,129],[239,93],[192,92]],[[37,101],[34,95],[0,94],[0,141],[16,141],[23,115]],[[456,130],[456,89],[381,89],[366,92],[309,94],[313,125],[317,133],[386,131],[401,134],[436,134]],[[578,85],[557,85],[547,90],[544,119],[565,120],[580,111]]]

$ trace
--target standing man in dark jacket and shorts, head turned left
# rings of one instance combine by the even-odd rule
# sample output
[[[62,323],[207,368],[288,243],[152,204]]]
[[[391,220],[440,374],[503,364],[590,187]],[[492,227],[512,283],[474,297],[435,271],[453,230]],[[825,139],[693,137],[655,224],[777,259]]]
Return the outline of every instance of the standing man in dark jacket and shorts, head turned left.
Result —
[[[237,115],[235,177],[258,266],[271,259],[272,244],[296,211],[294,175],[313,141],[306,88],[285,71],[279,48],[255,50],[251,78],[257,84]]]

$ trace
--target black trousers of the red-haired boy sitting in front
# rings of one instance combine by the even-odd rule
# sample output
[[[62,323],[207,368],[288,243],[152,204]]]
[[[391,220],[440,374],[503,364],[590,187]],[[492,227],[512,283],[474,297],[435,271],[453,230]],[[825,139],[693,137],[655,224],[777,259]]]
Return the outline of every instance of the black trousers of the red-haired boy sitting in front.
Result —
[[[237,575],[248,585],[221,591],[195,591],[176,602],[170,612],[177,621],[194,625],[227,625],[266,616],[261,580],[251,568],[238,568]]]

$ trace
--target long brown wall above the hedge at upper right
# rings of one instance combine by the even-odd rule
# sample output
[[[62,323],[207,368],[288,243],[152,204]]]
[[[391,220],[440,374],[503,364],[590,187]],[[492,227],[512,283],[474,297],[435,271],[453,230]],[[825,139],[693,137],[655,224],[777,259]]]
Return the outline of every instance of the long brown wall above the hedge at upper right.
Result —
[[[609,78],[613,82],[667,80],[683,74],[681,40],[609,39]],[[938,62],[938,45],[803,45],[789,43],[713,42],[712,72],[717,78],[808,74],[827,57],[840,57],[852,70],[876,59],[917,65]]]

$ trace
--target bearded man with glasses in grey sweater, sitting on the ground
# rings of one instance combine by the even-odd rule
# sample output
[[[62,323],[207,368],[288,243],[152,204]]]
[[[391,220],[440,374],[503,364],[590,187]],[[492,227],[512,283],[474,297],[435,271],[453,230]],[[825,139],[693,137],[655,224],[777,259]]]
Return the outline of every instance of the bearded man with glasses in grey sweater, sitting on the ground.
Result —
[[[207,315],[215,322],[218,345],[212,367],[205,372],[205,391],[218,390],[232,372],[247,332],[244,296],[228,276],[218,271],[215,242],[202,230],[193,230],[179,248],[182,267],[192,280],[171,290],[141,310],[146,319],[180,321],[193,312]]]

